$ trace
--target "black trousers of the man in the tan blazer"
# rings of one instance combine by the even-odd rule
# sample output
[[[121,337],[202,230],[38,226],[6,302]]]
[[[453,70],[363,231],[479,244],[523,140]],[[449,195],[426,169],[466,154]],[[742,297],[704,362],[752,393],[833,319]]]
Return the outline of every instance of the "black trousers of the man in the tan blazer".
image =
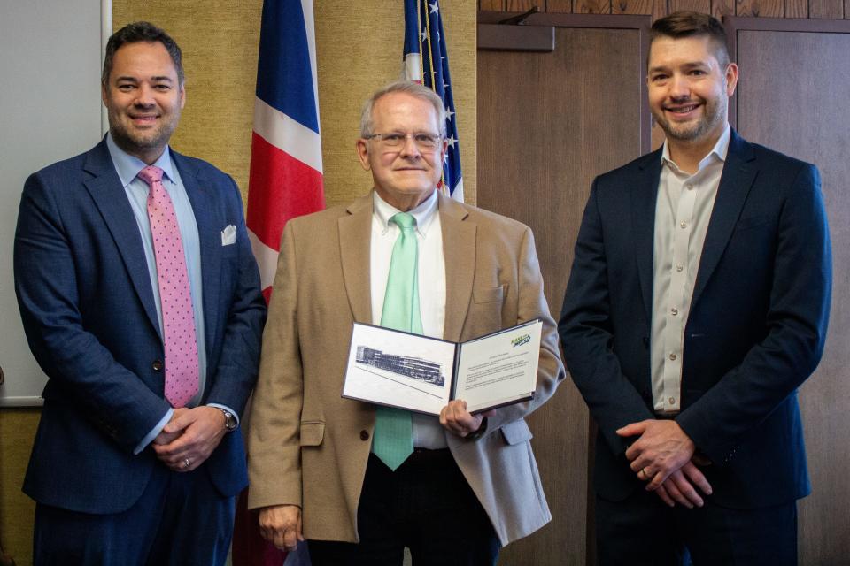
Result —
[[[448,449],[416,450],[398,470],[369,455],[359,544],[310,540],[313,566],[492,566],[498,538]]]

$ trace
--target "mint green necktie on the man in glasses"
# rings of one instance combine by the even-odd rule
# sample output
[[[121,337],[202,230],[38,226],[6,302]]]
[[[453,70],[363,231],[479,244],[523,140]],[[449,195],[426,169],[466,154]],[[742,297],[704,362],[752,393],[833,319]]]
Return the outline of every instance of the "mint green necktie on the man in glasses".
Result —
[[[422,317],[419,311],[419,256],[416,243],[416,219],[406,212],[392,218],[401,229],[392,248],[387,292],[383,296],[381,325],[396,330],[421,334]],[[413,424],[410,412],[378,407],[375,412],[375,433],[372,451],[381,461],[396,470],[413,454]]]

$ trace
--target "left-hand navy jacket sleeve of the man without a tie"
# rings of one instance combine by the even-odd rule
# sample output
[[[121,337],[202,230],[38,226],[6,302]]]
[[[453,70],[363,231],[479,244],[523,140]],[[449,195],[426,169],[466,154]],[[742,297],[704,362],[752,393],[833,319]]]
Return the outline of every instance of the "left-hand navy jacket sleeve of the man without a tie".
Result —
[[[654,418],[654,415],[623,374],[612,348],[614,325],[608,287],[609,260],[597,179],[593,181],[584,209],[558,330],[570,376],[608,446],[615,455],[621,455],[628,446],[627,440],[615,431],[625,424]]]

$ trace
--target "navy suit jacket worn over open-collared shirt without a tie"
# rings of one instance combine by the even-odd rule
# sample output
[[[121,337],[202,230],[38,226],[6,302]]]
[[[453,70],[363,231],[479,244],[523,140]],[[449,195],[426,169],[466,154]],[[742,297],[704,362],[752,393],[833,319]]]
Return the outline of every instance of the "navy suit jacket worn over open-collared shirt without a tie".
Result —
[[[642,486],[614,432],[653,417],[653,233],[661,149],[591,188],[560,318],[564,356],[599,424],[595,486]],[[757,509],[810,491],[797,388],[823,352],[831,249],[814,165],[732,132],[684,330],[676,417],[712,461],[714,500]]]

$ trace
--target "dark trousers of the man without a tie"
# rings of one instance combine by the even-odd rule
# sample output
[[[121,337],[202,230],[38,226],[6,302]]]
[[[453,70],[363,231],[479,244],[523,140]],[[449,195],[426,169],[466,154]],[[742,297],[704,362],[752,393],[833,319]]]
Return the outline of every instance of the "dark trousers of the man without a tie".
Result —
[[[794,566],[797,502],[767,509],[669,508],[639,489],[625,501],[596,498],[599,565]]]

